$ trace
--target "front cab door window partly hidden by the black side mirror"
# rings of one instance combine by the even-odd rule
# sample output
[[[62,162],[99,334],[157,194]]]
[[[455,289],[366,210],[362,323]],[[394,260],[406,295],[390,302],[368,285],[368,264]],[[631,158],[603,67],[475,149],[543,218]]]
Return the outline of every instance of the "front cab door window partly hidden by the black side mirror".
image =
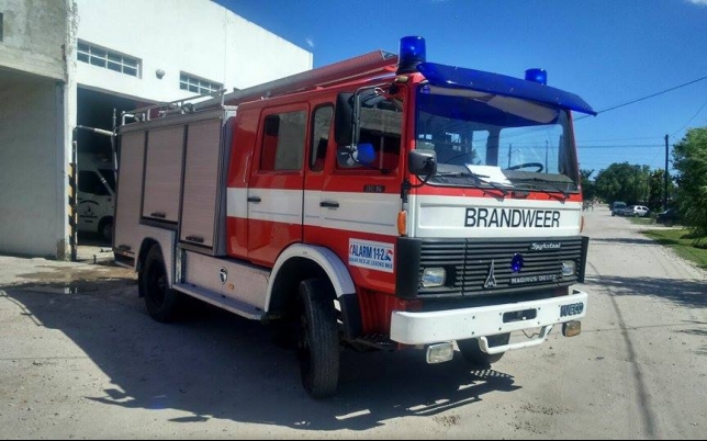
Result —
[[[378,97],[379,99],[381,97]],[[355,161],[350,155],[339,151],[337,166],[340,169],[384,169],[397,168],[400,161],[401,133],[403,125],[403,105],[394,98],[375,100],[370,105],[361,103],[361,128],[359,145],[370,144],[372,148],[371,162],[363,166]]]

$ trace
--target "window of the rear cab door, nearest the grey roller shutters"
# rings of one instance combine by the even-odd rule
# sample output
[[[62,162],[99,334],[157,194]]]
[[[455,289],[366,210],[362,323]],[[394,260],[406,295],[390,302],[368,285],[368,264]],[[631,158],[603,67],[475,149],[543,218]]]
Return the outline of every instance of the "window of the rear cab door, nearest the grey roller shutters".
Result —
[[[306,113],[304,111],[266,116],[260,170],[301,170],[305,135]]]

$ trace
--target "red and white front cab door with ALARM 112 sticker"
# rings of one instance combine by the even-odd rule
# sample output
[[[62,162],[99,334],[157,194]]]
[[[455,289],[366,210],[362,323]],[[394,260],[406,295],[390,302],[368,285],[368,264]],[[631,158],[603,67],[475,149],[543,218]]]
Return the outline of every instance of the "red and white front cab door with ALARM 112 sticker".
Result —
[[[321,123],[312,128],[310,163],[317,165],[321,146],[327,151],[322,173],[316,166],[307,170],[305,196],[307,244],[334,250],[349,264],[357,285],[388,292],[394,290],[403,177],[403,113],[393,100],[379,100],[362,111],[356,156],[336,145],[333,131],[323,139],[330,113],[326,106],[315,109],[313,120]],[[370,256],[359,256],[361,249]]]

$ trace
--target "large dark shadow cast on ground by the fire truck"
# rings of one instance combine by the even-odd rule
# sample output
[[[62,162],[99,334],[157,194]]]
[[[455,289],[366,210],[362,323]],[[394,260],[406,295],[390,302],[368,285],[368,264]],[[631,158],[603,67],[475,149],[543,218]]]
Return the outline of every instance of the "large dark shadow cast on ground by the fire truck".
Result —
[[[313,400],[300,384],[294,354],[273,346],[259,323],[200,304],[186,320],[160,325],[126,283],[74,291],[13,286],[0,295],[36,326],[68,336],[111,378],[111,387],[87,399],[189,412],[175,422],[220,418],[326,431],[367,430],[411,416],[445,423],[435,416],[520,388],[513,376],[473,371],[460,357],[429,365],[422,351],[344,351],[338,395]]]

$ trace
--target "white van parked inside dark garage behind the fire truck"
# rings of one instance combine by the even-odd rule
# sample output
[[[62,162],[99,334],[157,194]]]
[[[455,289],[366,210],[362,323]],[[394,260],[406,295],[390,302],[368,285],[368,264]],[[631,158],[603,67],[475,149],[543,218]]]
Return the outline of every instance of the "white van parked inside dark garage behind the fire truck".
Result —
[[[78,230],[97,233],[113,240],[115,172],[112,160],[96,155],[79,155]]]

